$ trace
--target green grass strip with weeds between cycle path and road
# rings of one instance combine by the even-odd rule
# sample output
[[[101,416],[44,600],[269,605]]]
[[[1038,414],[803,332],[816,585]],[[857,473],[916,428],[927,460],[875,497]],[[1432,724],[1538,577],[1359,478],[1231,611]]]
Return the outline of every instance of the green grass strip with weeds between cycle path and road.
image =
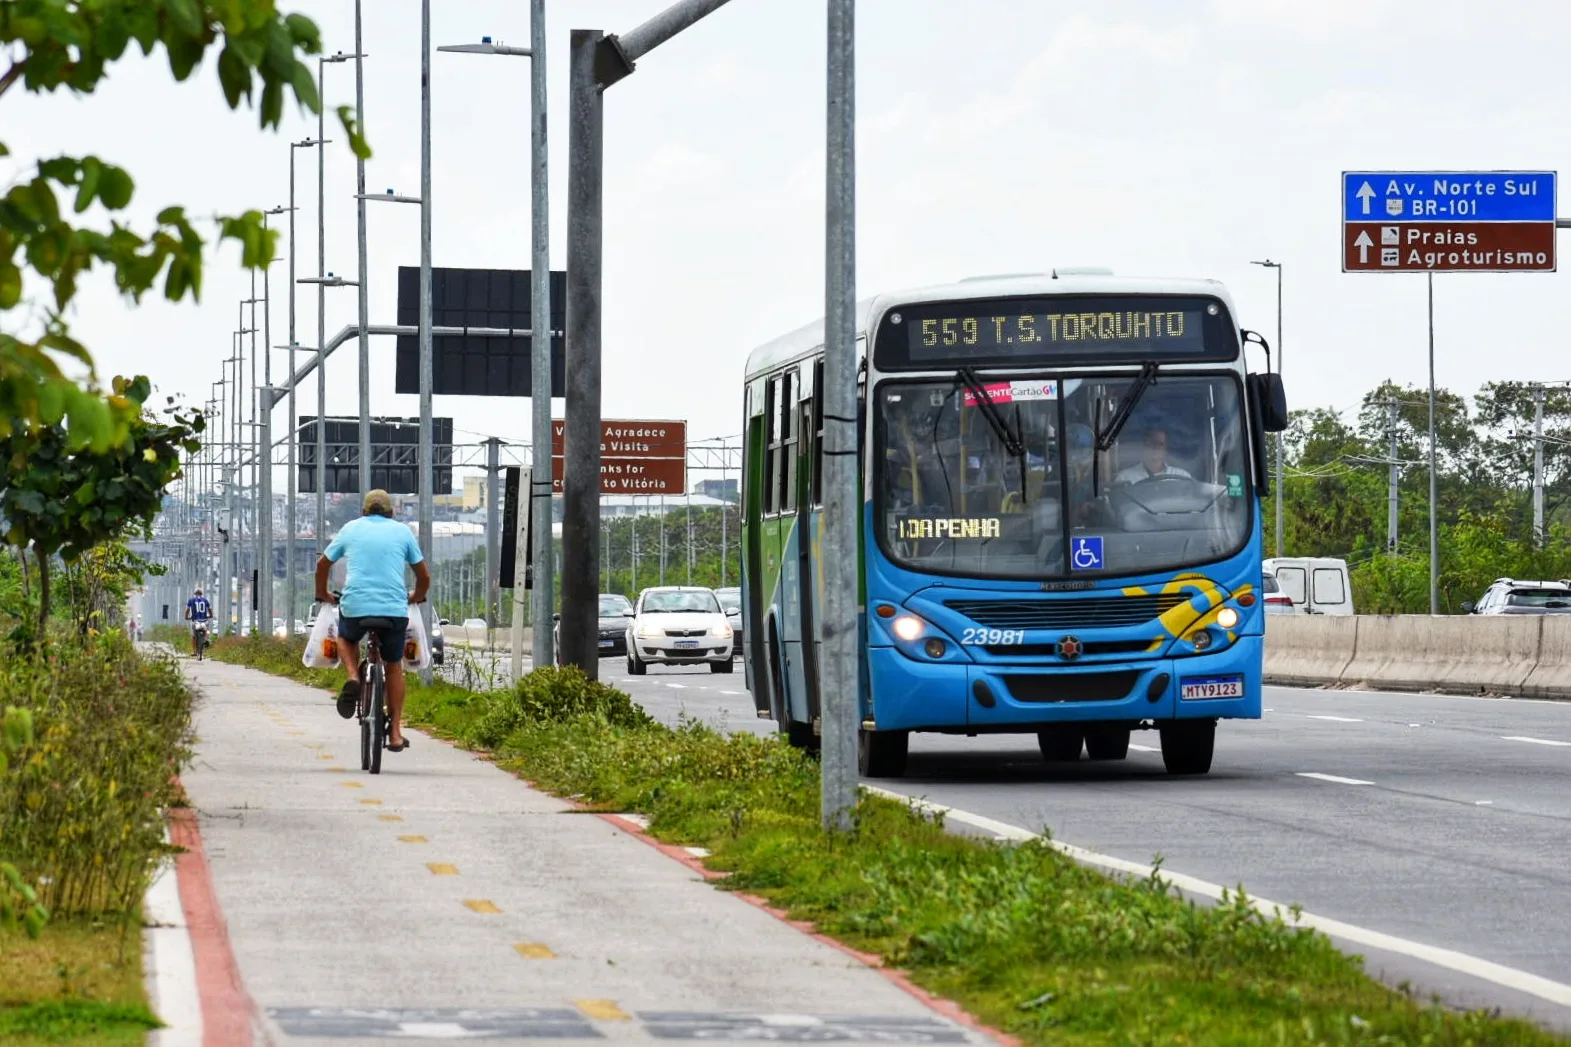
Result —
[[[225,660],[306,671],[272,641]],[[292,668],[289,659],[294,659]],[[319,681],[336,685],[331,678]],[[911,973],[1026,1044],[1053,1047],[1551,1047],[1558,1036],[1393,992],[1329,939],[1265,917],[1240,890],[1218,906],[1158,877],[1119,880],[1034,843],[958,836],[867,797],[856,828],[818,827],[818,767],[778,739],[668,728],[627,695],[545,668],[478,695],[412,687],[410,722],[558,795],[639,811],[669,843],[710,849],[718,885]]]

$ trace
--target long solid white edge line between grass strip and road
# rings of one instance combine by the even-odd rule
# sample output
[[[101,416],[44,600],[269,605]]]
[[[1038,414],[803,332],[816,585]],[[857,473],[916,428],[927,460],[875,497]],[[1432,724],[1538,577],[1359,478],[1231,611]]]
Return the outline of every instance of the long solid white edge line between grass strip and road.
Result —
[[[985,828],[987,832],[996,833],[1004,839],[1040,839],[1037,833],[1021,828],[1020,825],[1010,825],[1009,822],[999,822],[969,811],[958,811],[952,806],[944,806],[943,803],[930,803],[914,795],[880,789],[878,786],[864,784],[862,788],[875,795],[900,800],[903,803],[911,803],[919,810],[943,814],[949,821]],[[1112,855],[1098,854],[1095,850],[1086,850],[1084,847],[1076,847],[1075,844],[1067,844],[1059,839],[1046,839],[1043,843],[1068,858],[1079,861],[1081,865],[1089,865],[1108,872],[1125,872],[1141,879],[1156,872],[1156,869],[1148,865],[1141,865],[1139,861],[1130,861],[1126,858],[1114,858]],[[1170,869],[1161,869],[1161,877],[1167,884],[1172,884],[1178,890],[1191,895],[1200,895],[1213,899],[1221,899],[1224,893],[1232,895],[1230,888],[1219,884],[1211,884],[1208,880],[1186,876],[1183,872],[1174,872]],[[1251,898],[1249,904],[1266,917],[1280,915],[1284,921],[1293,923],[1293,912],[1280,902],[1257,896]],[[1525,992],[1538,997],[1540,1000],[1558,1003],[1560,1006],[1571,1006],[1571,986],[1551,981],[1549,978],[1543,978],[1540,975],[1530,975],[1525,970],[1516,970],[1514,967],[1505,967],[1503,964],[1496,964],[1477,956],[1467,956],[1466,953],[1456,953],[1455,950],[1445,950],[1437,945],[1425,945],[1423,942],[1398,939],[1397,935],[1386,934],[1382,931],[1370,931],[1368,928],[1342,923],[1340,920],[1331,920],[1329,917],[1316,917],[1302,910],[1298,913],[1298,924],[1313,928],[1321,934],[1346,939],[1354,945],[1411,956],[1412,959],[1434,964],[1436,967],[1455,970],[1461,975],[1469,975],[1507,989],[1514,989],[1516,992]]]

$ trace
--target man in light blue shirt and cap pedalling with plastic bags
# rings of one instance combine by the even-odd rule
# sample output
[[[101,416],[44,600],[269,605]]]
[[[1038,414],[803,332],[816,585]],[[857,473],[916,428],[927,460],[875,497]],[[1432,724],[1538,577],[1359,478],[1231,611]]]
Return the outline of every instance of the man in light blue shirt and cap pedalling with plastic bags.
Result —
[[[366,618],[388,619],[391,624],[377,627],[377,646],[382,651],[382,667],[388,689],[388,750],[401,753],[408,748],[401,717],[404,715],[404,634],[408,629],[408,605],[424,604],[430,588],[430,571],[426,569],[419,542],[408,527],[393,519],[393,498],[386,490],[372,490],[361,505],[361,516],[344,525],[316,561],[316,599],[327,613],[333,596],[327,591],[327,575],[333,564],[349,558],[349,577],[338,604],[338,635],[344,643],[338,656],[344,662],[349,679],[338,692],[338,715],[349,720],[360,703],[360,641],[369,627]],[[404,588],[404,566],[415,569],[415,591]]]

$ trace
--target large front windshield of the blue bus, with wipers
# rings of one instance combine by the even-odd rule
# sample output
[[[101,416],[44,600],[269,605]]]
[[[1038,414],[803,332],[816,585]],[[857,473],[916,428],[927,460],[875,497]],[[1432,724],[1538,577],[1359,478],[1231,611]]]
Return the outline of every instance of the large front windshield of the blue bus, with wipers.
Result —
[[[878,387],[875,511],[906,568],[1093,580],[1238,552],[1254,514],[1235,374],[1164,369],[1101,451],[1137,374],[982,379],[1002,426],[960,379]],[[1015,437],[1024,454],[1012,454]],[[1021,476],[1024,470],[1024,476]]]

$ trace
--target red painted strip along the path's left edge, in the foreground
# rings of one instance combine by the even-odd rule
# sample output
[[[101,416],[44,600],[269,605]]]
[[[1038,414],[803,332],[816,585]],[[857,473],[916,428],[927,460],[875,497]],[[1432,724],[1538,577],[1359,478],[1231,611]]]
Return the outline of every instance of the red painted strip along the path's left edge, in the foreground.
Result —
[[[196,959],[196,997],[201,1003],[203,1047],[253,1047],[256,1005],[240,979],[240,965],[229,948],[229,928],[218,907],[212,869],[201,844],[196,810],[170,808],[170,841],[182,847],[174,855],[174,879]],[[265,1033],[262,1034],[265,1039]],[[272,1042],[265,1039],[265,1042]]]

